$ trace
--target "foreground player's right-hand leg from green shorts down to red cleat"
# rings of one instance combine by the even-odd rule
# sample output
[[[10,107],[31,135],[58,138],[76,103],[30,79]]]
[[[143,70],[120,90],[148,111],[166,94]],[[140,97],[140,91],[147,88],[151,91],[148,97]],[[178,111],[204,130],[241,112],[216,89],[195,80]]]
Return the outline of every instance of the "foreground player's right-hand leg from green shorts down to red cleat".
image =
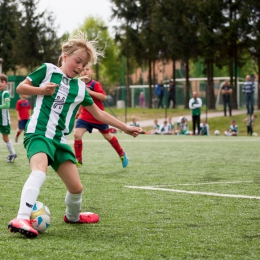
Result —
[[[59,166],[57,174],[67,187],[64,221],[79,224],[98,222],[97,214],[81,212],[83,186],[76,165],[71,160],[65,161]]]

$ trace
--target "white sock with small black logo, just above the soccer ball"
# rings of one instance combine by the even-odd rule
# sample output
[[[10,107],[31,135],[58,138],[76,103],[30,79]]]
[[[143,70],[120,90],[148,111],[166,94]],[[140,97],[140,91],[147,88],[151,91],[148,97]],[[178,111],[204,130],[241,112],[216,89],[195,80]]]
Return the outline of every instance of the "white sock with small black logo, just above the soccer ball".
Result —
[[[23,186],[17,219],[30,219],[33,205],[37,200],[40,188],[44,183],[45,178],[46,174],[42,171],[31,172]]]

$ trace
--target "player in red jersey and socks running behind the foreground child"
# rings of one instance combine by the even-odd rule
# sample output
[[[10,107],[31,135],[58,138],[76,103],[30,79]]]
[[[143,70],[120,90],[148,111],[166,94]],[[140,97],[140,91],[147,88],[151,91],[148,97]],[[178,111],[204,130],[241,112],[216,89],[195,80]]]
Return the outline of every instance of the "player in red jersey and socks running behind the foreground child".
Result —
[[[101,109],[104,110],[103,101],[106,100],[106,93],[103,90],[101,84],[98,81],[92,79],[94,71],[90,64],[86,65],[84,70],[81,72],[81,79],[86,82],[86,87],[89,95],[92,97],[94,103]],[[117,138],[111,134],[109,126],[98,120],[96,120],[92,114],[88,112],[84,107],[80,107],[76,114],[78,118],[74,129],[74,152],[77,159],[77,166],[82,166],[82,136],[86,131],[92,132],[93,128],[98,129],[103,137],[112,145],[120,157],[122,166],[125,168],[128,164],[126,153],[120,146]]]

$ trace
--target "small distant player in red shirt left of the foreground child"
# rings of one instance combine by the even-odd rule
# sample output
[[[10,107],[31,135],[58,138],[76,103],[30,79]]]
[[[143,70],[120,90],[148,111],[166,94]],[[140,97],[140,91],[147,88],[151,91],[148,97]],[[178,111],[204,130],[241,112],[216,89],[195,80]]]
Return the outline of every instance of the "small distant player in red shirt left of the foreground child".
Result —
[[[20,99],[16,102],[16,114],[18,119],[18,129],[15,135],[15,142],[18,142],[18,137],[24,130],[30,117],[30,102],[26,95],[20,95]]]

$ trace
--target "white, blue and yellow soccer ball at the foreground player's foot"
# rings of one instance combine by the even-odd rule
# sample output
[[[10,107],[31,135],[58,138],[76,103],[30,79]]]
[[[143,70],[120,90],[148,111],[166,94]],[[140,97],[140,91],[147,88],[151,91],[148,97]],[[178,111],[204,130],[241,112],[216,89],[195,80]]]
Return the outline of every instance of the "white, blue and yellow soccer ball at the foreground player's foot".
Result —
[[[40,201],[36,201],[31,214],[31,223],[39,232],[46,230],[51,223],[51,212],[49,208]]]

